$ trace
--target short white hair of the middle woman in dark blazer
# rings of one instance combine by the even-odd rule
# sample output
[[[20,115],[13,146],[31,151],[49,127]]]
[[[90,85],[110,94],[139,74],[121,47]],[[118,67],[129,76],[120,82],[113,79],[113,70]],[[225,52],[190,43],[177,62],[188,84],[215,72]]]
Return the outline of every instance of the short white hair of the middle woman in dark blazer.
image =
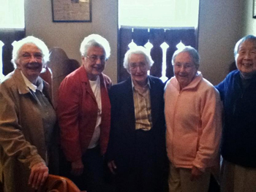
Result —
[[[146,64],[151,67],[154,64],[154,61],[151,58],[151,55],[148,50],[146,50],[143,46],[136,46],[132,47],[131,49],[127,50],[127,53],[124,55],[124,69],[129,71],[129,58],[132,54],[144,55],[146,59]]]

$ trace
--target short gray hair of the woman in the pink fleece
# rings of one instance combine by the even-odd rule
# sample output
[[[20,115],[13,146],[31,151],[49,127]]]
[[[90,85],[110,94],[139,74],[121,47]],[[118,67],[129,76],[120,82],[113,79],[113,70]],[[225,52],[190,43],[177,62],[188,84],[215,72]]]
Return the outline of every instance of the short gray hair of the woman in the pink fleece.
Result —
[[[175,59],[176,59],[176,56],[179,54],[179,53],[189,53],[189,55],[191,56],[194,64],[195,64],[195,67],[198,69],[199,68],[199,62],[200,62],[200,56],[197,52],[197,50],[195,50],[194,47],[191,47],[191,46],[185,46],[185,47],[182,47],[178,50],[176,50],[174,53],[173,53],[173,58],[172,58],[172,63],[174,64],[175,62]]]

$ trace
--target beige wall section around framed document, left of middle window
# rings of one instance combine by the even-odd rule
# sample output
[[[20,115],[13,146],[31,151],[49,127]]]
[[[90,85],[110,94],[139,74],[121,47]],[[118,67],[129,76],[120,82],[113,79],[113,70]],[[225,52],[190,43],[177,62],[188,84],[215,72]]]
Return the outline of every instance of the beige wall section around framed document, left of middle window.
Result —
[[[80,42],[89,34],[100,34],[110,42],[111,55],[105,74],[117,78],[117,0],[93,0],[91,23],[53,23],[51,0],[26,0],[26,35],[41,38],[49,48],[61,47],[69,58],[80,62]]]

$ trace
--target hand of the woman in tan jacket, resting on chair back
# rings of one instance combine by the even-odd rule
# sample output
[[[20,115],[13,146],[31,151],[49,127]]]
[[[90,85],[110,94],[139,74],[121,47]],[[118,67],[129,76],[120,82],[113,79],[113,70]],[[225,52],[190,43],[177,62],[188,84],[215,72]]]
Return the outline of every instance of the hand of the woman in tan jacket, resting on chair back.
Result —
[[[38,189],[39,186],[42,186],[45,183],[47,177],[48,167],[45,165],[45,163],[40,162],[34,164],[34,166],[31,167],[29,185],[32,185],[32,188]]]

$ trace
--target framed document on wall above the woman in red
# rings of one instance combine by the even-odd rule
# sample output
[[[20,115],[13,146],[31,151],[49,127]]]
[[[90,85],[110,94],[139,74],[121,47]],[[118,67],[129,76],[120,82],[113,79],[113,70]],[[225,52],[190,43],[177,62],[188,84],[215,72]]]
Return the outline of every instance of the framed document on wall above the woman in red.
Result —
[[[51,0],[53,22],[91,22],[91,0]]]

